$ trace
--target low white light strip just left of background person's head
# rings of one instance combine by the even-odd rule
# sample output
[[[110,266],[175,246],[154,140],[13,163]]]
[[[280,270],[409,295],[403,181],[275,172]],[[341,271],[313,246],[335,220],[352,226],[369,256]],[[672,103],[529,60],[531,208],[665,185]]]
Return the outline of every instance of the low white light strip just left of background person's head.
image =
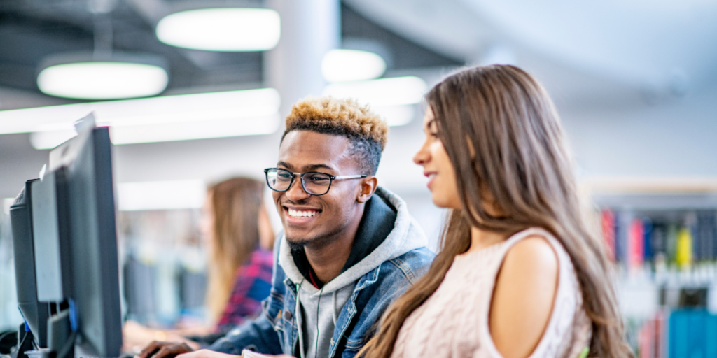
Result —
[[[120,183],[117,188],[120,211],[201,208],[206,198],[202,180],[171,180]]]

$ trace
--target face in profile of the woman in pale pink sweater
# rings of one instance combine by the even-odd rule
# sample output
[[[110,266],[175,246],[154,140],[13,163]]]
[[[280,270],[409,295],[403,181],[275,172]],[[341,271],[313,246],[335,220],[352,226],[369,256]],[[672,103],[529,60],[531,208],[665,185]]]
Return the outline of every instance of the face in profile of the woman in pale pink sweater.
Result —
[[[423,118],[423,132],[426,140],[414,155],[413,161],[423,167],[423,175],[427,176],[428,189],[431,190],[431,200],[439,208],[460,209],[455,170],[438,137],[438,125],[431,107],[427,108]]]

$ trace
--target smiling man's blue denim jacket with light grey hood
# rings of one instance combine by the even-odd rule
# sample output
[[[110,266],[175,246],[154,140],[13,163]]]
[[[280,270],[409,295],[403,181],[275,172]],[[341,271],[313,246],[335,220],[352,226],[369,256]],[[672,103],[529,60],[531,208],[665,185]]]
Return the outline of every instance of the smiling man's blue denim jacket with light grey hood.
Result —
[[[338,313],[328,358],[356,355],[376,329],[385,309],[427,271],[434,258],[432,251],[425,247],[425,236],[408,215],[403,200],[380,187],[376,195],[397,209],[396,224],[384,243],[356,264],[371,264],[372,267],[356,279],[351,296]],[[300,334],[295,317],[299,285],[295,275],[291,275],[291,279],[280,263],[281,248],[286,248],[283,240],[285,238],[280,237],[275,245],[272,289],[270,296],[262,302],[262,314],[232,329],[209,349],[229,354],[241,354],[242,349],[265,354],[294,354]],[[295,270],[287,269],[291,274]]]

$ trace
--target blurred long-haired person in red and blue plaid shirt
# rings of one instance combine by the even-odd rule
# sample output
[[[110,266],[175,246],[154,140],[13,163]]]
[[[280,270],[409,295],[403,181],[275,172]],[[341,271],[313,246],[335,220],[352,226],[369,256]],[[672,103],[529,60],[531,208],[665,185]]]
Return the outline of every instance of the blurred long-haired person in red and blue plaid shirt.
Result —
[[[231,178],[207,190],[201,233],[208,253],[205,304],[211,324],[161,330],[128,321],[123,329],[126,351],[136,352],[155,339],[198,349],[261,312],[261,301],[271,289],[274,246],[262,200],[264,185],[251,178]]]

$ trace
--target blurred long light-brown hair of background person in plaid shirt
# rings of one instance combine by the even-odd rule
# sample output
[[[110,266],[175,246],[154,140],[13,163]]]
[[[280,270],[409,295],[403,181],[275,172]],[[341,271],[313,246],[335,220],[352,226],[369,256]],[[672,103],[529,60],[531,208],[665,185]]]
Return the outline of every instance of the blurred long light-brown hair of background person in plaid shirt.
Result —
[[[264,183],[251,178],[224,180],[207,190],[214,211],[214,237],[205,300],[214,321],[224,312],[237,269],[259,247],[263,190]]]

